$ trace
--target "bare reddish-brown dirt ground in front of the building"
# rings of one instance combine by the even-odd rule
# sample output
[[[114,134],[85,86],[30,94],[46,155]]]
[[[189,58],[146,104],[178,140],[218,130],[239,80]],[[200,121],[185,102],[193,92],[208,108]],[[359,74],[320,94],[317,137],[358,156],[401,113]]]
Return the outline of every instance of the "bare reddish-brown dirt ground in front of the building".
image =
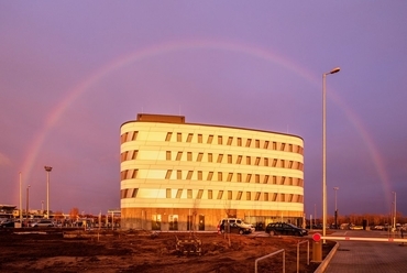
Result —
[[[68,238],[70,237],[70,238]],[[199,253],[177,251],[177,240],[190,242],[193,233],[150,231],[0,230],[0,272],[254,272],[257,258],[285,250],[286,272],[297,272],[297,243],[310,238],[196,233]],[[182,244],[180,244],[182,245]],[[323,245],[323,256],[333,242]],[[188,244],[185,245],[187,249]],[[184,249],[184,250],[185,250]],[[199,248],[191,247],[191,249]],[[307,243],[300,244],[300,271],[307,265]],[[258,272],[282,272],[283,253],[258,262]]]

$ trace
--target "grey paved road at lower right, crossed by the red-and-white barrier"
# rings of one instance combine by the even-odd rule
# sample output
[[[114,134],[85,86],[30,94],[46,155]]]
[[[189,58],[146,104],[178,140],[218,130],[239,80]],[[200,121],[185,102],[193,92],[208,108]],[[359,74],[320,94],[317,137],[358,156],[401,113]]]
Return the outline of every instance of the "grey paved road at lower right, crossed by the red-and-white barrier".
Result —
[[[343,230],[330,236],[393,237],[385,231]],[[396,237],[399,238],[399,237]],[[407,272],[407,243],[338,241],[339,248],[330,260],[326,273],[344,272]]]

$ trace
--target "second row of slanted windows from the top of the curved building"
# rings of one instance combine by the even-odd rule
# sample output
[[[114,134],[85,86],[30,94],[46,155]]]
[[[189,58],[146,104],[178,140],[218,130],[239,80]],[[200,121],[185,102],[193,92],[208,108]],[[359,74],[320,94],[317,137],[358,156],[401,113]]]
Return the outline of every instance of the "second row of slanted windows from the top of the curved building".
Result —
[[[139,151],[125,151],[121,153],[121,161],[132,161],[138,159]],[[173,154],[175,156],[173,156]],[[260,157],[260,156],[243,156],[234,154],[213,154],[213,153],[193,153],[193,152],[172,152],[166,151],[167,161],[194,161],[202,162],[216,162],[216,163],[228,163],[228,164],[243,164],[243,165],[255,165],[255,166],[270,166],[270,167],[282,167],[282,168],[293,168],[304,171],[304,164],[297,161],[287,161],[270,157]],[[215,161],[216,159],[216,161]]]

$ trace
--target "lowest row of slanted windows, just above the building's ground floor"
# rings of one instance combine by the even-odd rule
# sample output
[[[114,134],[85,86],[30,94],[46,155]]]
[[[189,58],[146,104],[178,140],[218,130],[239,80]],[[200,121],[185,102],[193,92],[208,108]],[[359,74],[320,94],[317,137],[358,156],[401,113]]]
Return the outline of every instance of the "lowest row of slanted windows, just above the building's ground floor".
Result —
[[[196,195],[194,196],[194,192]],[[121,198],[138,198],[139,188],[121,189]],[[184,193],[184,194],[183,194]],[[186,194],[185,194],[186,193]],[[186,198],[186,199],[217,199],[217,200],[246,200],[246,201],[286,201],[302,203],[304,196],[283,193],[262,193],[243,190],[212,190],[212,189],[166,189],[166,198]]]

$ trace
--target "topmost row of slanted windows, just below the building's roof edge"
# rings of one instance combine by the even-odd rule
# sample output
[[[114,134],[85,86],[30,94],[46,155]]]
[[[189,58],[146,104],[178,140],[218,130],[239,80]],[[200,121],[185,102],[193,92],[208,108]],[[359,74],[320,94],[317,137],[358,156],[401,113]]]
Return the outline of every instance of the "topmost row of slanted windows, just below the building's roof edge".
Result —
[[[121,135],[121,143],[128,141],[135,141],[138,139],[139,131],[125,132]],[[213,144],[213,140],[217,140],[217,144],[219,145],[230,145],[230,146],[244,146],[244,148],[257,148],[257,149],[265,149],[265,150],[275,150],[275,151],[283,151],[283,152],[294,152],[304,154],[304,148],[300,145],[295,145],[290,143],[283,143],[276,141],[268,141],[268,140],[257,140],[257,139],[245,139],[245,138],[237,138],[237,136],[223,136],[223,135],[215,135],[208,134],[204,135],[201,133],[194,134],[194,133],[173,133],[167,132],[165,136],[165,141],[170,142],[173,139],[173,134],[176,134],[176,142],[187,142],[187,143],[207,143]]]

